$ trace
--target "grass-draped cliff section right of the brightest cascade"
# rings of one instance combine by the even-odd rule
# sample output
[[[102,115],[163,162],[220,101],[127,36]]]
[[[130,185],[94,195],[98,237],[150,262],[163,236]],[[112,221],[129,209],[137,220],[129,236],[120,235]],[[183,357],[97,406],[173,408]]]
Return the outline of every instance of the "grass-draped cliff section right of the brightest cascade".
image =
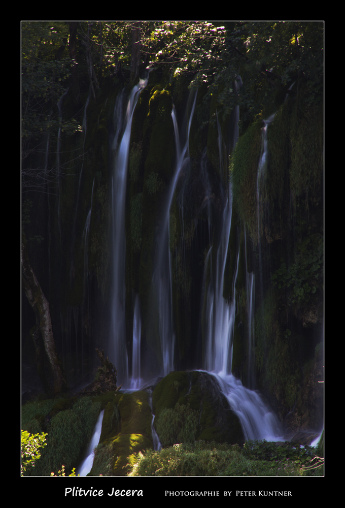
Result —
[[[322,118],[322,105],[306,105],[303,90],[277,109],[267,128],[260,193],[255,160],[262,156],[263,123],[253,124],[239,139],[232,166],[242,260],[233,369],[245,374],[243,355],[250,358],[243,340],[250,332],[246,280],[253,271],[256,386],[282,418],[289,410],[307,411],[313,427],[322,422],[315,408],[322,407],[317,401],[323,393]],[[306,409],[301,399],[310,376],[314,389]]]

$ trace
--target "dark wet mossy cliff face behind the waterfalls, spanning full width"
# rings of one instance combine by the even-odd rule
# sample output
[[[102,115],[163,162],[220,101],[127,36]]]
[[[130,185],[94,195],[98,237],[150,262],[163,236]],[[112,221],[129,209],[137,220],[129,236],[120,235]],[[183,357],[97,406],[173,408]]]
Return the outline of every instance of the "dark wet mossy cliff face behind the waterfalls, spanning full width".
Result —
[[[112,161],[114,140],[121,139],[124,122],[114,119],[114,111],[116,101],[122,101],[116,114],[125,118],[130,87],[121,96],[122,86],[115,85],[105,81],[96,100],[87,90],[81,93],[83,132],[72,137],[62,133],[47,148],[48,164],[63,168],[58,181],[50,183],[44,195],[28,192],[25,198],[25,232],[32,238],[29,257],[49,300],[54,338],[71,382],[91,370],[96,346],[107,353],[110,340],[117,340],[110,330],[111,229],[117,199]],[[162,372],[166,354],[171,370],[205,367],[205,295],[212,284],[216,287],[230,181],[233,206],[222,292],[233,305],[232,372],[245,385],[262,390],[281,419],[289,415],[291,426],[317,427],[322,419],[322,384],[317,383],[323,362],[322,106],[306,103],[303,87],[274,105],[266,132],[265,173],[258,184],[263,120],[271,112],[261,113],[240,133],[233,151],[233,118],[218,118],[217,94],[211,100],[205,91],[199,88],[192,114],[188,82],[169,83],[168,76],[152,72],[133,113],[121,339],[128,375],[136,295],[142,317],[142,375]],[[61,114],[68,117],[74,108],[66,94]],[[161,269],[169,279],[166,345],[160,338],[162,297],[152,281],[177,167],[176,132],[181,145],[188,139],[188,151],[171,198],[165,254],[169,261]],[[29,355],[29,310],[27,315],[23,345]],[[111,360],[118,368],[117,359]]]

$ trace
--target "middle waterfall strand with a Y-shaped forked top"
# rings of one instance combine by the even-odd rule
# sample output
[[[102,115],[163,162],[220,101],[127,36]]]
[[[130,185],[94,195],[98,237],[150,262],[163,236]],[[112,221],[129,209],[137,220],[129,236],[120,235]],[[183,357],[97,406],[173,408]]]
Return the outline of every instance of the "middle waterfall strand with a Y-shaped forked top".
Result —
[[[188,142],[189,131],[193,118],[196,91],[192,92],[190,99],[192,100],[191,113],[188,119],[188,128],[186,140],[183,146],[180,144],[180,134],[178,129],[175,108],[172,108],[171,116],[174,123],[175,142],[176,142],[176,167],[174,176],[172,177],[168,196],[166,200],[166,208],[163,214],[163,221],[157,238],[157,255],[155,259],[155,269],[153,274],[153,289],[156,296],[159,315],[159,338],[162,354],[163,375],[167,375],[174,370],[174,350],[175,350],[175,333],[172,322],[172,282],[171,282],[171,253],[169,248],[169,221],[170,206],[176,183],[178,181],[181,168],[187,162],[189,157]]]

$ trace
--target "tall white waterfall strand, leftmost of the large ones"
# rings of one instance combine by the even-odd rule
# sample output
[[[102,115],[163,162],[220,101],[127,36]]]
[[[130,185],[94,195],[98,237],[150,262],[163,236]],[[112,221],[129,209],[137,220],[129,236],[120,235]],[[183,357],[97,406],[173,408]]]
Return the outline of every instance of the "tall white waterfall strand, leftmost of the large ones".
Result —
[[[116,365],[120,383],[128,379],[128,356],[125,341],[125,198],[127,183],[127,166],[130,142],[130,130],[133,112],[139,94],[147,85],[146,80],[134,86],[131,91],[124,125],[122,126],[122,101],[116,102],[114,119],[116,130],[113,139],[114,172],[112,180],[112,302],[110,323],[109,355]],[[117,148],[120,132],[123,132]]]

